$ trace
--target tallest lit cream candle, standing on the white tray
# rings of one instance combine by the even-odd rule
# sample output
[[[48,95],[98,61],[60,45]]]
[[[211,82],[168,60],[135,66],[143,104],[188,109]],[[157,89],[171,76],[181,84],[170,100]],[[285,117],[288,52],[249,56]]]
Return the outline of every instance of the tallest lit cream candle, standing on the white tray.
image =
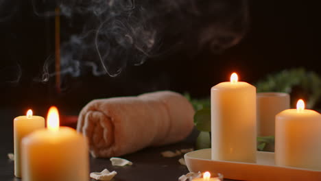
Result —
[[[236,73],[211,88],[213,160],[256,162],[256,101],[256,88]]]

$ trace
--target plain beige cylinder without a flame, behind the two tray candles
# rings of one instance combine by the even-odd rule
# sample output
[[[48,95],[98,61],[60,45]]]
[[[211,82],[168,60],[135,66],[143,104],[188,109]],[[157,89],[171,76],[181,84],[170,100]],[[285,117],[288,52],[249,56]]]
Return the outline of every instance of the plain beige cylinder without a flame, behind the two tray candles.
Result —
[[[287,93],[257,93],[257,136],[274,136],[275,116],[289,104]]]

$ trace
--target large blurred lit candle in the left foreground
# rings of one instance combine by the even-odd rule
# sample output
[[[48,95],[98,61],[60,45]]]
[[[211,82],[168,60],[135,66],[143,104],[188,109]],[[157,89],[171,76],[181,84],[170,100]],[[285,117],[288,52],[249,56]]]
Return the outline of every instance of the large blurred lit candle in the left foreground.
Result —
[[[51,107],[47,129],[32,132],[21,142],[24,181],[88,181],[88,147],[84,136],[59,127],[56,107]]]

